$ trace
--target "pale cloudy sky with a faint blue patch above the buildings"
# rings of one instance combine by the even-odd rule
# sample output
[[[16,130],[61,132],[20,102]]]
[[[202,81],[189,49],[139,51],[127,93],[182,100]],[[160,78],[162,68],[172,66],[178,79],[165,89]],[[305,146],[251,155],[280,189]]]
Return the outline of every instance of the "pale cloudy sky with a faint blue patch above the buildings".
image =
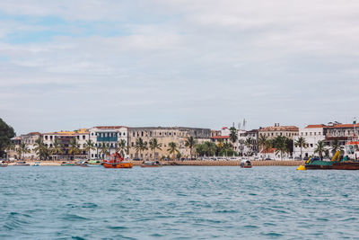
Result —
[[[352,122],[357,0],[2,0],[0,118],[101,125]]]

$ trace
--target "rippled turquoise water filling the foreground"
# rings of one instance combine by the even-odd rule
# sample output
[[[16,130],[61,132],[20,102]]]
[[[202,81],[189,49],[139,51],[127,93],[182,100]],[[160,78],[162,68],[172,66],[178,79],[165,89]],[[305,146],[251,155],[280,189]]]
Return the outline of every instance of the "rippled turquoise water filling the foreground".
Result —
[[[0,239],[359,238],[358,172],[0,168]]]

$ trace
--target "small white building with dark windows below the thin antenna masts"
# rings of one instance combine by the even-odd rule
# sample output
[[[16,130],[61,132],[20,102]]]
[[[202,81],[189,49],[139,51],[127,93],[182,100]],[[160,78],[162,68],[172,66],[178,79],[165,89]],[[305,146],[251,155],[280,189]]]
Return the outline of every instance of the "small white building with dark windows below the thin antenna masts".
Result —
[[[258,155],[258,129],[238,130],[238,156]]]

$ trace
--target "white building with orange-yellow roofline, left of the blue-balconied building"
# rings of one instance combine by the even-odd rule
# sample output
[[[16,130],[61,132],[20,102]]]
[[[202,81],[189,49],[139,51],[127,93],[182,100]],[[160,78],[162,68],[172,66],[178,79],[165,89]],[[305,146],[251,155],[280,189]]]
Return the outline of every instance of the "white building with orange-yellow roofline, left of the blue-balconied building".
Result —
[[[42,134],[42,140],[46,147],[51,148],[54,146],[55,139],[60,145],[61,153],[50,156],[53,160],[74,160],[87,158],[86,151],[83,149],[83,145],[90,138],[90,132],[88,129],[78,129],[74,131],[56,131]],[[76,143],[80,148],[78,154],[69,153],[71,147],[71,141],[76,139]]]

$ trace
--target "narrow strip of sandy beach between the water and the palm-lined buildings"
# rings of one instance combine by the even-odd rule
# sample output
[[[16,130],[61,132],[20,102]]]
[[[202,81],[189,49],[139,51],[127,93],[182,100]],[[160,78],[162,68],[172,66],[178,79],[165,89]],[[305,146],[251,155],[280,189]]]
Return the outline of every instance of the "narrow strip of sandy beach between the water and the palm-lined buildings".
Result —
[[[26,161],[26,160],[24,160]],[[39,163],[40,166],[61,166],[63,161],[26,161],[27,164]],[[139,166],[142,161],[130,161],[134,166]],[[192,160],[192,161],[160,161],[163,166],[239,166],[241,161],[204,161],[204,160]],[[304,164],[302,160],[268,160],[268,161],[251,161],[253,166],[299,166]],[[16,163],[10,163],[12,166]]]

